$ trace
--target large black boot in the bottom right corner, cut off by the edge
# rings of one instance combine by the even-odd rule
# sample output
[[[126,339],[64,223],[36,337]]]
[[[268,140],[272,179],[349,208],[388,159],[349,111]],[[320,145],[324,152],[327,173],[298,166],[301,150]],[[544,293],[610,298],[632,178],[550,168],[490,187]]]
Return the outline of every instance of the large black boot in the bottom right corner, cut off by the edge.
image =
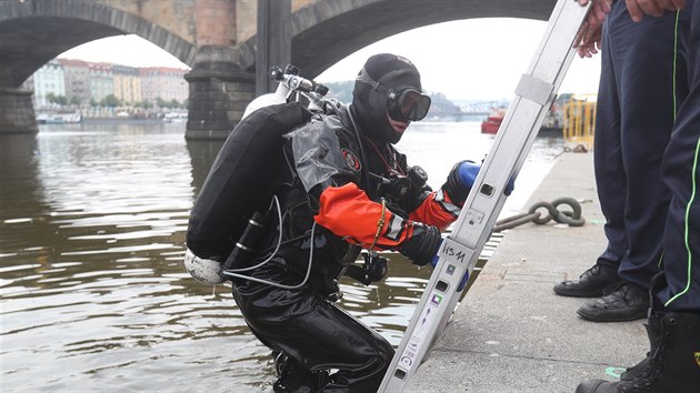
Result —
[[[644,361],[632,367],[623,380],[584,381],[576,393],[697,393],[700,391],[700,313],[659,312],[659,330]]]

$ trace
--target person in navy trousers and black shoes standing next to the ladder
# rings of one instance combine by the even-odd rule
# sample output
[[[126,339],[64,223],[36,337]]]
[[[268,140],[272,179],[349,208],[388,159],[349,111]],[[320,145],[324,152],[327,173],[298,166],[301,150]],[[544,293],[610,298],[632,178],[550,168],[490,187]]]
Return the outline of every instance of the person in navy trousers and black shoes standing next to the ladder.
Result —
[[[678,105],[688,94],[690,14],[667,11],[637,23],[623,1],[592,7],[579,54],[594,54],[602,39],[593,153],[608,246],[578,280],[553,290],[563,296],[599,296],[579,308],[586,320],[632,321],[647,316],[651,278],[660,272],[671,198],[661,161]]]

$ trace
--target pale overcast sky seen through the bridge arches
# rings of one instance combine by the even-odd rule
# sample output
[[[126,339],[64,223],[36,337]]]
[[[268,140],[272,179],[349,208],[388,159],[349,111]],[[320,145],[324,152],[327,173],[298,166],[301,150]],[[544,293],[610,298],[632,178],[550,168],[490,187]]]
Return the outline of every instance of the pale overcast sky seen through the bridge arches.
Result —
[[[416,64],[423,90],[443,93],[453,101],[510,100],[539,47],[546,26],[544,21],[489,18],[413,29],[350,54],[321,73],[316,81],[352,80],[371,54],[390,52],[401,54]],[[92,41],[59,57],[131,67],[187,68],[164,50],[137,36]],[[592,59],[576,57],[559,92],[596,93],[599,77],[599,56]]]

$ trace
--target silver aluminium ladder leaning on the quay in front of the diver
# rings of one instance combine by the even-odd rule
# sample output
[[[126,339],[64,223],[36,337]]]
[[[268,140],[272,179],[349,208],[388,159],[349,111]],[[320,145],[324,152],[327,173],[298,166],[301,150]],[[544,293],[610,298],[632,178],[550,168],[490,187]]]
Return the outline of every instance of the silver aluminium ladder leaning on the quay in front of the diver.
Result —
[[[504,202],[506,189],[522,167],[539,127],[573,59],[571,46],[588,7],[559,0],[528,73],[497,133],[454,230],[443,241],[437,271],[421,296],[380,392],[400,392],[416,373],[431,343],[447,324],[461,292],[464,273],[472,272]],[[553,59],[553,60],[552,60]],[[529,131],[528,131],[529,130]]]

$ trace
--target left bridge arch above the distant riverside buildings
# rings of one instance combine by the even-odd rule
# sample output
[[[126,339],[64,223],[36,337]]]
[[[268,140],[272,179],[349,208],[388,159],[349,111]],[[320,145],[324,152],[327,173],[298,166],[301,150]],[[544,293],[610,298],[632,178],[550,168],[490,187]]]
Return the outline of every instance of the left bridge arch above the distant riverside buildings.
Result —
[[[70,29],[67,27],[70,26]],[[194,46],[138,16],[80,0],[0,2],[0,87],[18,88],[60,53],[97,39],[137,34],[192,64]],[[31,42],[31,46],[27,46]]]

